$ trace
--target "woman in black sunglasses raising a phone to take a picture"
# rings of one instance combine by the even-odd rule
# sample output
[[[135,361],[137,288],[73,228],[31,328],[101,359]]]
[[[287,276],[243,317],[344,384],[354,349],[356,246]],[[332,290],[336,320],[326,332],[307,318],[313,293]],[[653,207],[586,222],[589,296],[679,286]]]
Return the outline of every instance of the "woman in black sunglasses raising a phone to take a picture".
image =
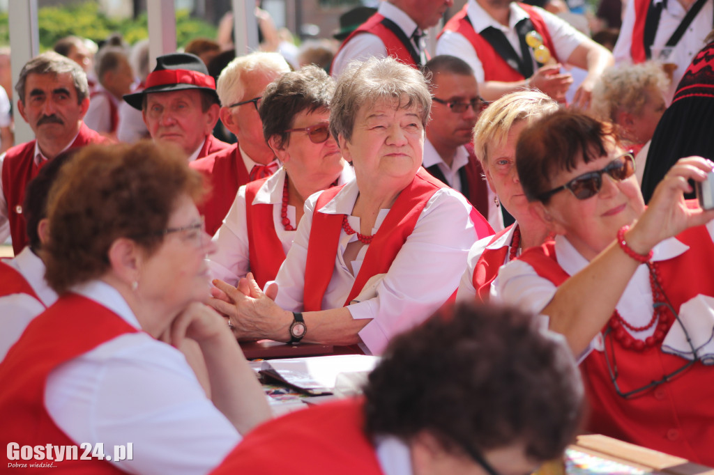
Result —
[[[555,233],[503,267],[498,298],[548,317],[581,356],[588,430],[714,465],[714,210],[684,193],[714,166],[683,158],[645,209],[609,123],[560,111],[521,133],[518,175]]]

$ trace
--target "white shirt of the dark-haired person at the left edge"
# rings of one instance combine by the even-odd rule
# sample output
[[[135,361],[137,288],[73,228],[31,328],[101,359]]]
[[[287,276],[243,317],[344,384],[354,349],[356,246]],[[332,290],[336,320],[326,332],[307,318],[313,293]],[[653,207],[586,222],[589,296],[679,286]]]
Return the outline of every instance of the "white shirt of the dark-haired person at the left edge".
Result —
[[[41,302],[27,294],[0,297],[0,361],[32,319],[57,300],[57,294],[44,280],[44,262],[29,247],[21,250],[14,259],[4,260],[3,263],[20,272]]]

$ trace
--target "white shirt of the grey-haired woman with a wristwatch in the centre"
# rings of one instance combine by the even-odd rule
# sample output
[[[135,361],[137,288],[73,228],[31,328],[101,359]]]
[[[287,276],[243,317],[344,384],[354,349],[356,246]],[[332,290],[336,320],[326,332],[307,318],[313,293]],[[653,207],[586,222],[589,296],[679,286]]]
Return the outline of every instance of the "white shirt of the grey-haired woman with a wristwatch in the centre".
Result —
[[[320,209],[321,213],[345,214],[349,225],[359,229],[359,218],[351,215],[358,193],[356,181],[348,183]],[[276,303],[285,310],[303,310],[308,238],[318,195],[316,193],[306,200],[305,215],[298,226],[293,247],[276,277]],[[388,212],[388,209],[379,212],[371,234],[378,232]],[[471,205],[461,193],[451,188],[441,188],[434,193],[388,272],[374,282],[375,296],[347,307],[354,319],[371,319],[359,332],[363,342],[361,347],[366,353],[381,354],[395,334],[426,320],[456,290],[466,267],[468,250],[478,237],[483,237],[476,236],[470,212]],[[335,267],[323,296],[323,309],[342,307],[352,289],[369,247],[363,246],[351,262],[351,273],[343,255],[348,243],[356,240],[356,234],[340,231]]]

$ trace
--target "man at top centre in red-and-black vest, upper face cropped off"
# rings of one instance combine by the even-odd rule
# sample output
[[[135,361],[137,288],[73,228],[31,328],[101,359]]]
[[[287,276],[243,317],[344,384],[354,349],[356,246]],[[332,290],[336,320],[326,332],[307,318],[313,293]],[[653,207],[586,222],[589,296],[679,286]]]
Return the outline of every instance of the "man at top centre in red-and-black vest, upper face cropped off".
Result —
[[[418,67],[426,63],[424,31],[436,26],[453,0],[382,1],[377,13],[347,37],[332,63],[331,74],[339,76],[347,63],[376,56],[394,56]]]

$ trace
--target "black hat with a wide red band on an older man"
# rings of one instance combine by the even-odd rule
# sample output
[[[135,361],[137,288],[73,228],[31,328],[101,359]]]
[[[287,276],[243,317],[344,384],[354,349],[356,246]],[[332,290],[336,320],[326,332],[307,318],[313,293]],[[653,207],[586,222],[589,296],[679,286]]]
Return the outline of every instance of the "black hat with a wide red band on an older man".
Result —
[[[144,94],[153,92],[201,89],[216,96],[216,80],[208,76],[206,65],[201,58],[190,53],[170,53],[156,58],[156,68],[146,76],[146,88],[138,93],[126,94],[124,101],[141,111]]]

